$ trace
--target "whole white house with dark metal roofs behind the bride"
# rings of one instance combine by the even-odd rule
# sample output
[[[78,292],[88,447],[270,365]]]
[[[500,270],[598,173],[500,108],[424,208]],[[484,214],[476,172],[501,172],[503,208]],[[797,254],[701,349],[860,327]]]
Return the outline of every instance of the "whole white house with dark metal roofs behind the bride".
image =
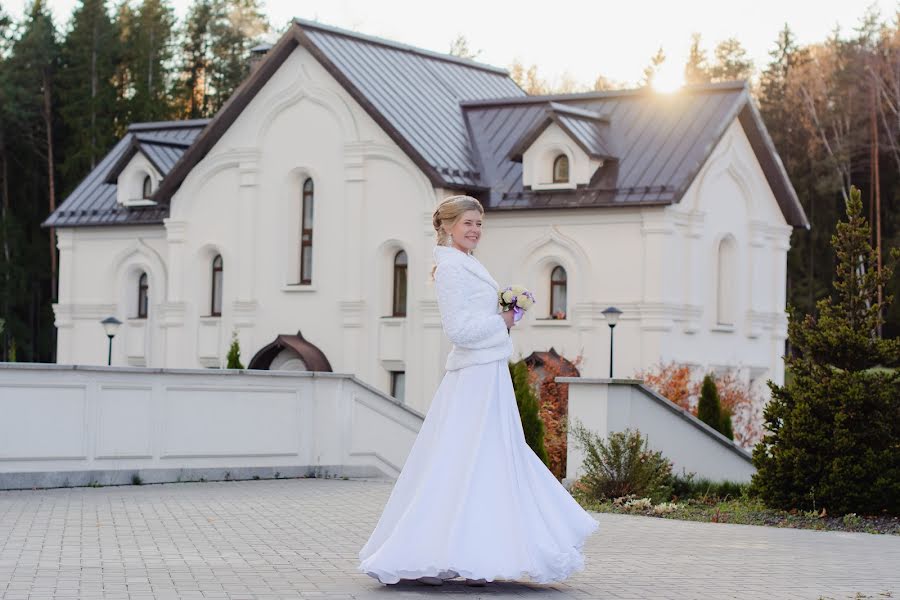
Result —
[[[783,380],[785,269],[808,227],[742,82],[528,96],[503,69],[297,20],[209,121],[142,123],[44,223],[58,362],[352,373],[425,411],[449,342],[431,215],[468,193],[476,255],[538,303],[518,357]],[[513,358],[517,358],[514,356]]]

